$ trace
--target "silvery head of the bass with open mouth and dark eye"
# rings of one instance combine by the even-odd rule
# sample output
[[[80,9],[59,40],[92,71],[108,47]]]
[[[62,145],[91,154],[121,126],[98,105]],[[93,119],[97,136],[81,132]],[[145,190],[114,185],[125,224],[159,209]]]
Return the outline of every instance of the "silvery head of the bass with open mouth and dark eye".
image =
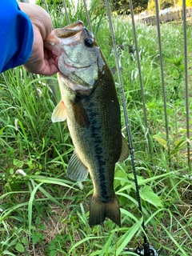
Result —
[[[94,35],[82,21],[52,30],[44,45],[58,56],[58,69],[68,87],[83,93],[94,87],[99,50]]]

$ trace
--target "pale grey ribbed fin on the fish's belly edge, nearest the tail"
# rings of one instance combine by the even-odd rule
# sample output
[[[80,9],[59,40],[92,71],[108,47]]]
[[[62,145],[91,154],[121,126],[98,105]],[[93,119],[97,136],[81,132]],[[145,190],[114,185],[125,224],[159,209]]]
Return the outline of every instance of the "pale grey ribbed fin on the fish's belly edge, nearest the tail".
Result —
[[[78,154],[74,151],[66,170],[66,176],[73,181],[82,181],[87,177],[88,173],[86,166],[83,165],[78,158]]]

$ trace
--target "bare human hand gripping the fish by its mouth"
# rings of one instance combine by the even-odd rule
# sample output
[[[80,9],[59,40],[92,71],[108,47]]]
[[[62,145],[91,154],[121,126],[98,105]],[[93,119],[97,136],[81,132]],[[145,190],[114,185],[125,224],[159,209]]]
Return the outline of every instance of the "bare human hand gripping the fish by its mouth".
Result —
[[[57,73],[59,71],[58,57],[43,46],[43,41],[53,29],[50,15],[38,5],[22,2],[19,2],[18,5],[29,16],[34,29],[32,54],[23,65],[24,68],[34,74],[52,75]]]

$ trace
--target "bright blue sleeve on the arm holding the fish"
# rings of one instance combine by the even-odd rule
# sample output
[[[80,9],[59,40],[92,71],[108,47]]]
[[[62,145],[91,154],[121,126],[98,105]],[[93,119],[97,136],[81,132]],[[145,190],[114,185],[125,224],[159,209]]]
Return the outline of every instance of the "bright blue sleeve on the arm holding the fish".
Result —
[[[0,73],[24,64],[32,53],[34,30],[16,0],[0,2]]]

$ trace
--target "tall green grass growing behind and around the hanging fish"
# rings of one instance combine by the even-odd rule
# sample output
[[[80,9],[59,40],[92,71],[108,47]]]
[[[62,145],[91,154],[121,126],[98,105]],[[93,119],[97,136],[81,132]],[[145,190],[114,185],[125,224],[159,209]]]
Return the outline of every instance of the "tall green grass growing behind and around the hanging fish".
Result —
[[[70,14],[71,21],[79,18],[86,21],[81,8],[74,16]],[[106,17],[96,18],[93,12],[92,7],[92,29],[109,66],[113,68],[114,50],[109,24]],[[50,13],[54,14],[55,27],[66,25],[62,14],[53,10]],[[104,226],[90,228],[92,182],[87,178],[82,182],[84,187],[81,190],[78,182],[66,178],[66,166],[74,146],[66,122],[52,123],[50,120],[60,99],[57,78],[35,76],[18,67],[6,71],[0,78],[0,255],[136,255],[123,249],[142,246],[143,218],[148,241],[161,252],[160,255],[192,254],[192,174],[186,158],[182,24],[161,26],[170,164],[156,27],[137,24],[136,29],[149,131],[144,120],[136,54],[130,54],[127,46],[134,45],[131,23],[114,18],[142,198],[142,218],[128,158],[117,164],[114,179],[122,227],[107,221]],[[192,61],[191,34],[189,25],[189,67]],[[190,69],[188,79],[190,84]],[[117,73],[114,80],[121,102]],[[190,117],[191,97],[190,92]],[[126,134],[123,111],[122,130]],[[151,154],[148,152],[147,132],[150,133]],[[23,170],[26,175],[19,174],[18,170]]]

